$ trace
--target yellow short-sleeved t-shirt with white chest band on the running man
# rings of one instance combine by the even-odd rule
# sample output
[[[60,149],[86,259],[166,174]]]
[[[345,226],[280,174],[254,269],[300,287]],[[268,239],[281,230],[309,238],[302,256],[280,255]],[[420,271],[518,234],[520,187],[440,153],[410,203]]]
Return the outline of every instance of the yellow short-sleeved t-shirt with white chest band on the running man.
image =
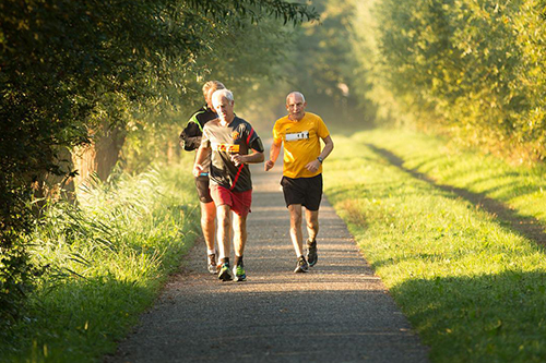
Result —
[[[299,121],[292,121],[288,116],[276,120],[273,128],[275,144],[284,143],[283,174],[288,178],[311,178],[322,172],[322,166],[316,172],[306,169],[306,165],[320,155],[320,138],[330,132],[322,119],[306,112]]]

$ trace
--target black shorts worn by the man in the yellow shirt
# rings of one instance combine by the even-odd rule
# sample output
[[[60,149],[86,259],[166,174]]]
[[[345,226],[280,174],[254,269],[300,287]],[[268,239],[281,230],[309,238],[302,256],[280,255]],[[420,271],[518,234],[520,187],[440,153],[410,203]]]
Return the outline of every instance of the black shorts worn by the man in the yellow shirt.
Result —
[[[296,179],[283,177],[281,185],[283,185],[286,207],[292,204],[301,204],[308,210],[319,210],[322,199],[322,174]]]

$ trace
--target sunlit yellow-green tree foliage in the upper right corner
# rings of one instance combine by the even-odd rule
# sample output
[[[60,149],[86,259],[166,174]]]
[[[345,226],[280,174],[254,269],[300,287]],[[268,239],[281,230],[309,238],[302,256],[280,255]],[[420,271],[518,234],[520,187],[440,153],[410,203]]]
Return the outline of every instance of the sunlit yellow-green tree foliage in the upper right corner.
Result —
[[[512,158],[542,159],[544,12],[539,0],[376,0],[359,9],[375,16],[371,28],[359,31],[368,39],[360,51],[372,59],[361,58],[360,68],[394,105],[383,114],[414,113],[420,128]]]

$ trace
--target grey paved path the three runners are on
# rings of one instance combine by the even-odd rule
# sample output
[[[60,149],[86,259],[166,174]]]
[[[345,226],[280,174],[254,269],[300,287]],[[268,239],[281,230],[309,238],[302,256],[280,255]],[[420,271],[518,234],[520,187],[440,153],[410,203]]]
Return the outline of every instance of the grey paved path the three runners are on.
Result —
[[[319,216],[319,262],[309,274],[293,274],[281,168],[262,168],[252,167],[248,280],[209,275],[200,243],[106,361],[427,362],[427,349],[328,201]]]

